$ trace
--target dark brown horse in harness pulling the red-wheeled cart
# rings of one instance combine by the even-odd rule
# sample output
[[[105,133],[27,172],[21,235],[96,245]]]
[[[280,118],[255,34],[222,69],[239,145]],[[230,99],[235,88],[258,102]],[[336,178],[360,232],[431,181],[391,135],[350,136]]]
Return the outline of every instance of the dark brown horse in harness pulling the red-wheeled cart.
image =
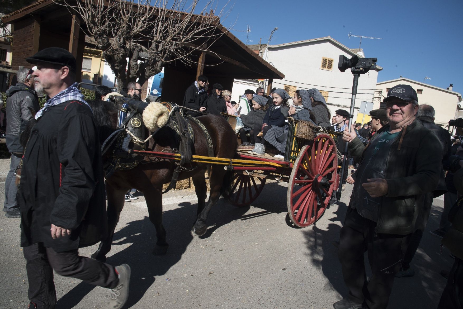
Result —
[[[100,142],[103,142],[117,127],[117,112],[120,106],[112,102],[89,102],[94,111],[94,118],[99,130]],[[117,104],[116,104],[117,105]],[[233,158],[237,149],[237,139],[230,124],[223,117],[215,115],[200,116],[198,119],[204,124],[212,138],[214,155],[221,158]],[[200,127],[192,122],[194,130],[193,154],[207,156],[207,141]],[[148,133],[148,132],[147,132]],[[177,148],[175,131],[163,127],[156,132],[149,142],[146,151],[169,151]],[[103,160],[108,158],[103,158]],[[196,163],[192,163],[196,166]],[[206,204],[206,180],[204,173],[209,169],[209,183],[211,192]],[[124,207],[124,195],[131,188],[144,194],[150,221],[156,228],[157,241],[153,254],[164,254],[169,247],[166,242],[166,230],[163,227],[163,184],[169,183],[175,169],[173,161],[145,158],[137,167],[130,170],[119,170],[106,179],[107,215],[109,237],[100,243],[98,250],[92,255],[97,260],[106,260],[106,253],[111,249],[114,229],[119,221],[119,215]],[[206,218],[212,206],[220,197],[226,171],[222,166],[200,165],[190,172],[182,172],[180,179],[193,179],[196,195],[198,196],[197,219],[192,232],[197,235],[206,233]]]

